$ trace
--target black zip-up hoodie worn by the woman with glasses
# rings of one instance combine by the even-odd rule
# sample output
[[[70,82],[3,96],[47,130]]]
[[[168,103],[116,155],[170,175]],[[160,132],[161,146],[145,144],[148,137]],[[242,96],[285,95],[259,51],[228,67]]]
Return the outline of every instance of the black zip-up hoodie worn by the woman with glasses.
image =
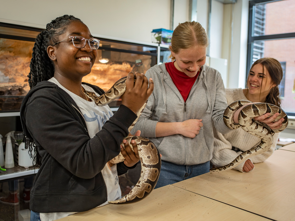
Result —
[[[34,140],[42,156],[31,190],[30,209],[34,212],[82,212],[107,200],[101,170],[120,153],[120,143],[137,116],[121,105],[90,139],[79,112],[71,96],[48,81],[38,83],[22,102],[24,134]],[[128,169],[123,162],[117,164],[118,175]]]

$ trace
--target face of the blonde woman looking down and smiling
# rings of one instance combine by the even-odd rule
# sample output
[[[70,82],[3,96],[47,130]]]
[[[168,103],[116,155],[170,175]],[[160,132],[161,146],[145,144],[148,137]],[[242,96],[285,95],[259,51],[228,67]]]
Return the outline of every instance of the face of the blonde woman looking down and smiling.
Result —
[[[174,66],[189,77],[194,77],[206,62],[206,47],[197,46],[189,49],[180,49],[178,53],[172,52],[175,57]]]

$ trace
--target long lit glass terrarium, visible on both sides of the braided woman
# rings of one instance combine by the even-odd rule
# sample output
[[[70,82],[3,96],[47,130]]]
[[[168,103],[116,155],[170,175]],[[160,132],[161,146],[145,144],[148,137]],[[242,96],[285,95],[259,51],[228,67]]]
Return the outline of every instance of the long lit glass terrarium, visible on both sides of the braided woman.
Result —
[[[42,29],[0,22],[0,113],[18,112],[30,90],[28,73],[35,37]],[[96,37],[96,36],[95,36]],[[157,45],[100,39],[96,62],[82,81],[107,91],[129,72],[145,73],[157,64]],[[109,104],[118,107],[120,98]]]

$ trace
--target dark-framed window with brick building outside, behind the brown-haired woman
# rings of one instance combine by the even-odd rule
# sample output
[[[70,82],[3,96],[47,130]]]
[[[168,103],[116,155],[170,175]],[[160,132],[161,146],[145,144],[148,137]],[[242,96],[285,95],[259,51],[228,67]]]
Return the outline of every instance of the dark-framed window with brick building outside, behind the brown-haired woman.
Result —
[[[291,116],[295,116],[294,11],[295,0],[249,2],[247,73],[259,58],[276,58],[283,68],[281,106]]]

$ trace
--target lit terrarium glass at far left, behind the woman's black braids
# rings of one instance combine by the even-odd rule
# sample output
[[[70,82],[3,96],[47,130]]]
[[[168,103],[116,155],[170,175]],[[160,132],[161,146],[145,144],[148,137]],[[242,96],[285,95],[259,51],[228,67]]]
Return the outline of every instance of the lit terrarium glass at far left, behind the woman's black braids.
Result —
[[[34,42],[0,38],[0,111],[19,110],[30,90],[28,73]]]

